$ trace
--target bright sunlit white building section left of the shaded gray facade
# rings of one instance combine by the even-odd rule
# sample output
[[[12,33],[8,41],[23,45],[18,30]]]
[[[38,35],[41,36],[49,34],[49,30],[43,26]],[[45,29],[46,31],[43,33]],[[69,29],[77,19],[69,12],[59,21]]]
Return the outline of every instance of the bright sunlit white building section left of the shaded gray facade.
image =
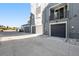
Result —
[[[46,4],[31,4],[31,33],[43,34],[42,11]]]

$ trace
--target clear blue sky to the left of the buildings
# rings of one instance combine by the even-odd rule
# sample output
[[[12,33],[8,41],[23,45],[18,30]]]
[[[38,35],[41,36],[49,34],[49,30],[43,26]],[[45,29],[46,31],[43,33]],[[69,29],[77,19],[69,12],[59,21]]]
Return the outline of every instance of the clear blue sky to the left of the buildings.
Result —
[[[30,16],[29,3],[0,3],[0,25],[21,26]]]

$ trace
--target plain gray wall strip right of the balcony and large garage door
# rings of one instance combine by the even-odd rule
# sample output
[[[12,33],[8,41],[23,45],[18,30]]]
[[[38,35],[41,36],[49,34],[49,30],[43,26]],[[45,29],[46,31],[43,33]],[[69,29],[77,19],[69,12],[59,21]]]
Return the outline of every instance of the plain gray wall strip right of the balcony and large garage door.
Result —
[[[70,37],[79,38],[79,3],[70,4],[70,15]]]

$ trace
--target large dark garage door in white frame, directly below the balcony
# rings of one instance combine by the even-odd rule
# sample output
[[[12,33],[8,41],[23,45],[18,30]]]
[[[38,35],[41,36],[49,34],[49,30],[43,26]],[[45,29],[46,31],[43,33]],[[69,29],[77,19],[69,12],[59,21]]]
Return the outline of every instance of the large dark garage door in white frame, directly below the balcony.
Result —
[[[51,25],[51,36],[66,37],[66,24]]]

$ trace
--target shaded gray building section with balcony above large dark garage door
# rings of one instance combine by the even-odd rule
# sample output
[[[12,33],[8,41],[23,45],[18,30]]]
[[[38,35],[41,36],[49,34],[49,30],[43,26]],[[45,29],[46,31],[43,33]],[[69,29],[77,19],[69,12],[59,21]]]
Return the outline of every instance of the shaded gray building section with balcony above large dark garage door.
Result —
[[[79,38],[79,4],[49,3],[44,10],[44,33],[49,36]]]

